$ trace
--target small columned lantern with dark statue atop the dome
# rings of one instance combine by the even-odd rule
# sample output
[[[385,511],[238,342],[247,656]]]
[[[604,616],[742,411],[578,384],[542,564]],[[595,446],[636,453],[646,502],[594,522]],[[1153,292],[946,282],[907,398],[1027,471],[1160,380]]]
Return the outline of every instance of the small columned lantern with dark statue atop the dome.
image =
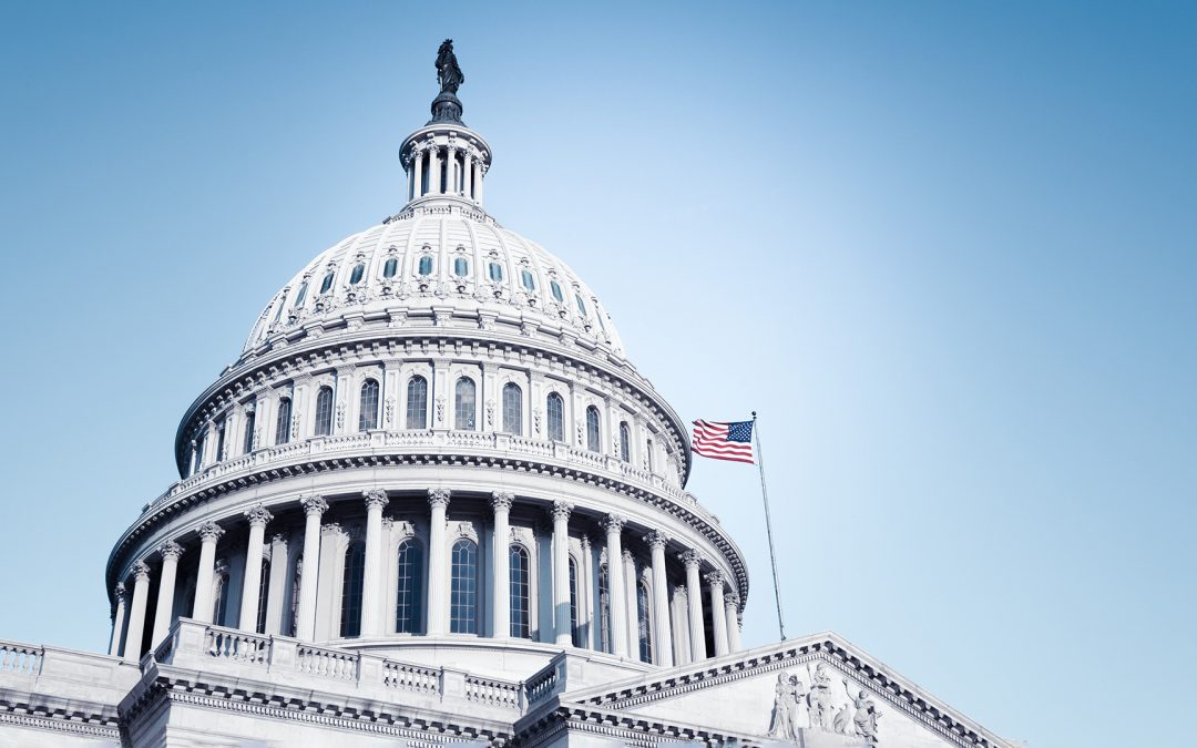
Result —
[[[400,159],[407,172],[407,200],[457,199],[481,206],[482,180],[491,168],[491,146],[462,122],[457,87],[466,81],[452,39],[437,54],[440,93],[432,101],[432,118],[407,136]]]

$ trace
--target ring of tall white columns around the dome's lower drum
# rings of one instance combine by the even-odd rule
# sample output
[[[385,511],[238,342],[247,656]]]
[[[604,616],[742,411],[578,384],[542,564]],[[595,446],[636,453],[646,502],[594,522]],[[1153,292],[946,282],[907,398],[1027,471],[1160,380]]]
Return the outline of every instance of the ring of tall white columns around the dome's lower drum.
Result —
[[[364,582],[361,586],[360,606],[360,636],[363,638],[378,638],[388,636],[382,630],[382,610],[385,601],[381,596],[383,585],[381,574],[384,570],[383,559],[383,510],[389,504],[385,491],[371,489],[363,492],[366,507],[365,522],[365,551],[364,551]],[[425,631],[427,636],[442,637],[450,633],[450,578],[451,558],[450,539],[448,537],[448,507],[451,492],[445,488],[429,489],[429,542],[427,564],[424,589],[426,590],[426,620]],[[486,596],[491,606],[492,634],[494,638],[510,638],[511,615],[511,546],[503,542],[510,539],[510,512],[516,497],[511,492],[496,491],[490,497],[490,509],[493,512],[493,529],[496,542],[491,543],[490,564],[491,574],[490,594]],[[321,535],[322,530],[332,525],[322,523],[324,513],[329,509],[328,501],[320,495],[303,495],[298,499],[299,509],[304,515],[303,529],[303,583],[298,585],[298,600],[294,601],[294,632],[302,640],[315,640],[317,630],[317,571],[321,567]],[[551,574],[548,579],[541,582],[541,589],[547,590],[552,598],[552,615],[542,624],[552,626],[552,639],[542,639],[555,643],[558,646],[571,646],[575,644],[572,606],[581,603],[578,600],[571,601],[571,577],[570,577],[570,521],[575,517],[575,507],[564,500],[553,501],[548,507],[552,518],[551,540]],[[625,534],[630,535],[631,542],[643,542],[649,552],[650,564],[648,578],[651,584],[651,601],[644,614],[649,618],[651,631],[651,652],[654,664],[670,667],[673,664],[685,664],[695,662],[710,656],[727,655],[730,651],[739,651],[740,625],[739,625],[739,597],[734,591],[724,594],[724,576],[715,568],[703,574],[703,568],[710,565],[703,555],[694,548],[683,549],[676,558],[685,567],[685,585],[675,591],[674,604],[685,607],[685,615],[670,615],[675,609],[670,604],[670,584],[667,573],[667,552],[673,543],[662,530],[649,530],[640,537],[631,537],[627,521],[616,515],[608,513],[595,517],[606,535],[607,558],[607,597],[606,610],[593,610],[591,621],[596,626],[606,626],[608,633],[608,651],[619,657],[636,658],[638,656],[640,612],[638,610],[638,583],[633,554],[624,547]],[[238,628],[248,632],[256,632],[260,620],[260,598],[262,595],[262,557],[265,549],[265,534],[267,525],[274,516],[263,506],[255,506],[243,515],[243,521],[248,524],[249,533],[245,546],[245,564],[243,571],[243,583],[241,585],[241,607],[238,616]],[[581,517],[576,517],[576,524],[581,524]],[[388,521],[389,522],[389,521]],[[577,528],[576,528],[577,529]],[[192,618],[211,624],[213,618],[214,602],[213,580],[217,562],[217,543],[225,534],[225,529],[214,522],[207,522],[199,528],[200,539],[199,564],[195,572],[195,598]],[[275,543],[284,542],[275,540]],[[583,548],[589,549],[589,536],[583,533]],[[150,646],[157,646],[168,634],[172,622],[172,606],[176,600],[177,567],[184,554],[184,547],[177,540],[166,540],[157,549],[162,559],[160,571],[157,579],[157,606],[152,619],[152,636]],[[590,560],[585,560],[585,573],[591,573]],[[577,571],[582,573],[581,570]],[[116,588],[116,606],[114,614],[114,632],[110,653],[117,656],[123,653],[128,658],[136,658],[142,650],[142,640],[147,619],[147,601],[151,590],[151,567],[142,559],[133,564],[132,570],[132,596],[126,584]],[[704,585],[705,582],[705,585]],[[581,586],[576,579],[575,583]],[[273,585],[272,585],[273,588]],[[292,590],[293,594],[293,590]],[[541,595],[546,592],[542,591]],[[577,590],[576,596],[582,597],[582,591]],[[280,590],[272,589],[272,596],[281,595]],[[707,652],[707,632],[704,624],[703,597],[707,597],[711,610],[711,634],[713,651]],[[272,602],[269,607],[280,615],[280,602]],[[602,606],[600,606],[601,608]],[[600,618],[604,619],[600,621]],[[225,621],[227,624],[227,621]],[[678,632],[678,626],[688,627],[686,632]],[[123,646],[121,632],[123,636]],[[678,647],[675,649],[675,637]],[[335,637],[333,637],[335,638]],[[688,644],[688,646],[687,646]],[[676,657],[675,657],[676,653]]]

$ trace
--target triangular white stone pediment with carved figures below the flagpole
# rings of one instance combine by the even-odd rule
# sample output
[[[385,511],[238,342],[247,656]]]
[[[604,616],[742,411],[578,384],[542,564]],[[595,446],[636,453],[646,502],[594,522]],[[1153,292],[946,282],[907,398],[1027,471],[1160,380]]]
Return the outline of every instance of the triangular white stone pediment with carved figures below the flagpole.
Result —
[[[717,726],[760,744],[1010,748],[836,634],[567,692],[560,700]]]

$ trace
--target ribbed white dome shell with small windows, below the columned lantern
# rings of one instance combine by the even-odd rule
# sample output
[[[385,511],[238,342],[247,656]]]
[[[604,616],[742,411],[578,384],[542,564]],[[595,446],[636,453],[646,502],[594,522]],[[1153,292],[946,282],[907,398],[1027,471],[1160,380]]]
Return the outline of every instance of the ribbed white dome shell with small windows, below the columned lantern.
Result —
[[[417,200],[385,223],[347,237],[299,270],[262,311],[243,357],[320,327],[395,318],[407,327],[445,317],[572,334],[624,358],[610,317],[558,257],[499,226],[476,205]]]

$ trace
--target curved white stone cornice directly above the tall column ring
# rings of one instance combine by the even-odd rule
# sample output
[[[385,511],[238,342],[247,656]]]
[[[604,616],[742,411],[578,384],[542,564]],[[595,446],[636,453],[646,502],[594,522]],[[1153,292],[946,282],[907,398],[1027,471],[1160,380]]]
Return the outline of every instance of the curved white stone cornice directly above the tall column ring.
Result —
[[[598,488],[619,493],[624,497],[643,501],[657,510],[664,511],[675,519],[688,524],[692,529],[707,539],[719,549],[727,559],[736,578],[736,589],[740,598],[748,598],[748,570],[739,547],[730,536],[721,528],[711,524],[700,513],[692,511],[686,505],[669,499],[660,493],[649,491],[616,478],[602,476],[591,473],[583,467],[563,467],[539,460],[511,457],[505,455],[462,455],[446,452],[383,452],[370,450],[365,452],[336,452],[333,455],[320,455],[312,458],[311,455],[297,455],[294,462],[277,461],[251,473],[235,474],[227,480],[200,484],[194,491],[180,494],[151,511],[144,513],[129,529],[124,531],[108,558],[108,588],[113,589],[117,582],[117,572],[124,565],[126,554],[130,546],[142,536],[152,533],[159,524],[177,519],[182,512],[189,511],[194,506],[205,504],[214,498],[233,493],[251,486],[271,484],[278,480],[300,475],[312,475],[334,470],[352,470],[359,468],[378,468],[402,464],[436,464],[436,466],[472,466],[499,468],[504,470],[518,470],[523,473],[535,473],[564,480],[576,481]],[[496,482],[499,482],[498,480]]]

